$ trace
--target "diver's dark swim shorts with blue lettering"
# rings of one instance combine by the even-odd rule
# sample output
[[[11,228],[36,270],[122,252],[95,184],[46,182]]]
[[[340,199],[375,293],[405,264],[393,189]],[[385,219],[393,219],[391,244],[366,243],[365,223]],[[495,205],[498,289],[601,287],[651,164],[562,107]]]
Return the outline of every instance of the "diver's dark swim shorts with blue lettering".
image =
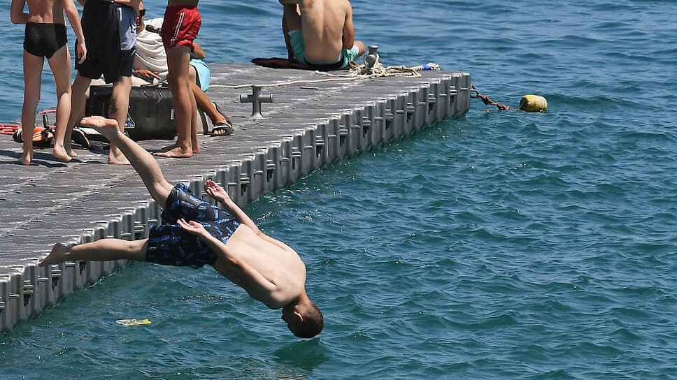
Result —
[[[240,225],[229,212],[197,198],[185,184],[177,184],[167,196],[163,224],[150,227],[145,261],[192,268],[214,263],[216,255],[209,246],[176,224],[181,218],[197,221],[222,242],[227,242]]]

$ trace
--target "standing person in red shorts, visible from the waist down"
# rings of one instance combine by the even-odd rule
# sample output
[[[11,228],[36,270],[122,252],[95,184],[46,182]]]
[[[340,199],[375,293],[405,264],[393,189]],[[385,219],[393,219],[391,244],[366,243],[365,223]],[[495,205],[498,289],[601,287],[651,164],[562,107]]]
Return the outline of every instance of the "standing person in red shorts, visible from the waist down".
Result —
[[[167,52],[167,82],[176,115],[176,143],[156,153],[163,157],[192,157],[200,152],[197,141],[197,105],[188,76],[193,41],[202,24],[198,0],[169,0],[162,22],[162,43]]]

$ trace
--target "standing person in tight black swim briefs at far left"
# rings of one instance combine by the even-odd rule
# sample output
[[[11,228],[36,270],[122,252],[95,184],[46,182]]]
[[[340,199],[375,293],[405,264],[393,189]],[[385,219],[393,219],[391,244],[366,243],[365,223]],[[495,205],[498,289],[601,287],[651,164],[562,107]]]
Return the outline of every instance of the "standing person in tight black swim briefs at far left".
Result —
[[[24,13],[28,1],[29,13]],[[24,37],[24,104],[21,110],[21,128],[24,152],[19,162],[30,165],[33,160],[33,133],[35,112],[40,101],[42,68],[47,58],[57,85],[57,122],[54,156],[59,161],[71,161],[64,148],[66,124],[71,112],[71,54],[66,43],[66,20],[78,38],[77,59],[87,55],[80,15],[73,0],[12,0],[10,17],[15,24],[26,24]]]

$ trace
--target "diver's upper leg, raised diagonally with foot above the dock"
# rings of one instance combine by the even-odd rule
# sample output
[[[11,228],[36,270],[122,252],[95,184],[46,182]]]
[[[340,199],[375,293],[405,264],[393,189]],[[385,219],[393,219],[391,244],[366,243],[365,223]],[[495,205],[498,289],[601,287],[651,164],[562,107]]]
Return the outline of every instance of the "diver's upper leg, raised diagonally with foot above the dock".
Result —
[[[141,177],[150,196],[155,199],[155,202],[160,207],[164,208],[167,196],[169,196],[173,186],[164,179],[162,170],[160,170],[157,161],[155,161],[150,153],[143,149],[141,145],[131,140],[131,138],[124,136],[120,129],[117,128],[117,121],[115,119],[91,116],[82,119],[80,124],[98,129],[102,135],[108,138],[111,144],[115,144],[122,154],[127,157],[139,177]]]

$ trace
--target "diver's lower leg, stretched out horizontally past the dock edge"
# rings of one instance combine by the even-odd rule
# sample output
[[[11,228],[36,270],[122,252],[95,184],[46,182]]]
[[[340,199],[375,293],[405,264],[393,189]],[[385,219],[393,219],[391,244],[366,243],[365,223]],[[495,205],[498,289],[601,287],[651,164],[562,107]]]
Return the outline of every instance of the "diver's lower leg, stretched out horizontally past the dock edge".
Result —
[[[95,242],[78,244],[69,248],[57,243],[50,254],[38,264],[40,266],[63,263],[64,261],[107,261],[134,260],[145,261],[148,239],[120,240],[101,239]]]

